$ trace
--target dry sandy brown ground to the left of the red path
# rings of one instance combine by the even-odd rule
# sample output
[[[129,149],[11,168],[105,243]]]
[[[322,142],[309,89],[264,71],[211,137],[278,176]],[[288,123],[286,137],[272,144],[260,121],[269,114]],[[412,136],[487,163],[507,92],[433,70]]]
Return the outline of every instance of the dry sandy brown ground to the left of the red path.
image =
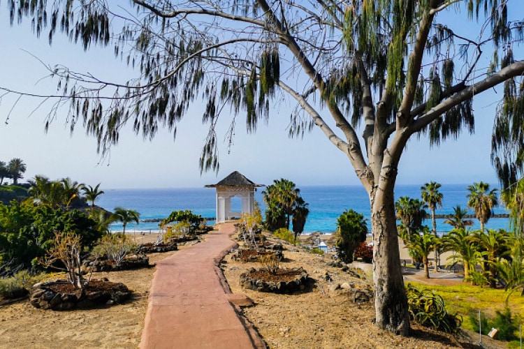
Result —
[[[154,264],[173,253],[148,256]],[[115,306],[50,311],[34,308],[29,299],[0,306],[0,348],[138,348],[153,273],[154,268],[94,273],[133,291],[131,300]]]

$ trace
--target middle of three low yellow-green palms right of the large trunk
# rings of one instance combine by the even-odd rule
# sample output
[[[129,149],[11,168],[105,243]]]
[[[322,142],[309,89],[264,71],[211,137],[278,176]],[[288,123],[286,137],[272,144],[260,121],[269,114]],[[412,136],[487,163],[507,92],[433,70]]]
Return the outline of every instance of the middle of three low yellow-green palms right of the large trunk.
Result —
[[[479,252],[473,239],[472,232],[466,228],[453,229],[442,237],[442,251],[456,252],[448,257],[450,262],[453,264],[456,264],[458,260],[463,262],[464,279],[470,279],[470,271],[479,261]]]

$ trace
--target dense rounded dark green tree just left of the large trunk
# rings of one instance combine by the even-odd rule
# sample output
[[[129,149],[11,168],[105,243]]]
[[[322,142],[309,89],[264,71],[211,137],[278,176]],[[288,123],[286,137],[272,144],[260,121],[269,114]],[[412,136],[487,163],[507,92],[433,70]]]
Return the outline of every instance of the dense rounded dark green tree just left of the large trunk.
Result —
[[[347,209],[337,218],[337,240],[338,256],[342,262],[353,262],[355,249],[361,242],[365,242],[367,235],[367,224],[364,216],[358,212]]]

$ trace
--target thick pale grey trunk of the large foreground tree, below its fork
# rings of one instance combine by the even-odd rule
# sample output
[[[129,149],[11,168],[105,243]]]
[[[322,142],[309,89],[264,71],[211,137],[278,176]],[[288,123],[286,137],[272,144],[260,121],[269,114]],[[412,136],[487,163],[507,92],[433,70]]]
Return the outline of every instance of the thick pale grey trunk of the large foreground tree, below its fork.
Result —
[[[393,188],[377,188],[371,198],[373,283],[377,326],[407,336],[409,313],[402,278]]]

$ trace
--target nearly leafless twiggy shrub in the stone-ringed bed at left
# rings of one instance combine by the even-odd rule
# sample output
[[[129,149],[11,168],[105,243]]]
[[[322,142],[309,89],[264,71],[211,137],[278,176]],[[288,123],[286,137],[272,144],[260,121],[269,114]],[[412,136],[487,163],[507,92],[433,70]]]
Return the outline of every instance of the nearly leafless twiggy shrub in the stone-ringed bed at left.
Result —
[[[52,247],[41,263],[45,267],[66,272],[68,281],[75,288],[81,289],[84,287],[82,273],[80,272],[82,265],[80,262],[81,251],[80,236],[73,232],[55,232]]]

